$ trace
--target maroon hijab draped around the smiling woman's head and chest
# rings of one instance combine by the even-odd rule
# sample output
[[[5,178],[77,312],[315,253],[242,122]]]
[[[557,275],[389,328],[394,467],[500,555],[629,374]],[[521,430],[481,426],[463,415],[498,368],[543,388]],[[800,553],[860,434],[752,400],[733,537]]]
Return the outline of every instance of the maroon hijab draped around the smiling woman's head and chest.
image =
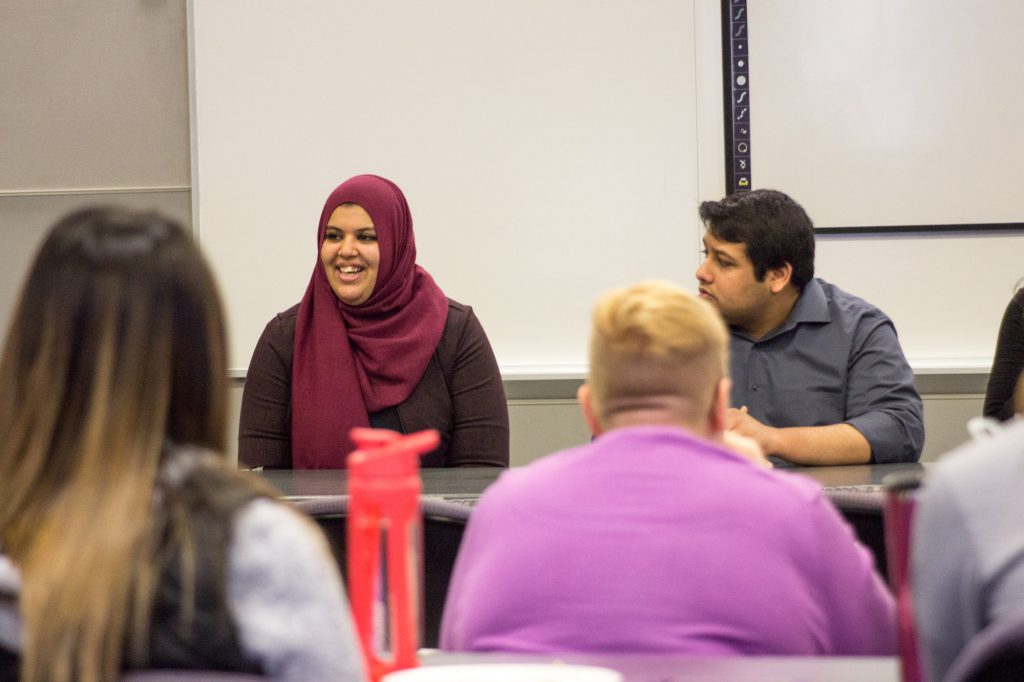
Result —
[[[373,294],[361,305],[335,296],[321,262],[331,214],[358,204],[377,228],[381,259]],[[356,175],[324,204],[316,265],[299,304],[292,366],[292,466],[340,469],[353,450],[348,431],[369,415],[408,398],[440,341],[447,299],[416,264],[413,218],[401,189]]]

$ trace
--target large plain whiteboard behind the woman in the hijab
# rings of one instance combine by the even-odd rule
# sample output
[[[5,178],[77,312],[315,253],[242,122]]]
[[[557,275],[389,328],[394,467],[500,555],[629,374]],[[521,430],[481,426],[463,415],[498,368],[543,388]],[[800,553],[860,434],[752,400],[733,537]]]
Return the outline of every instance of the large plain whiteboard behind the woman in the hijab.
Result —
[[[610,287],[695,289],[701,163],[703,191],[724,186],[720,133],[698,159],[698,81],[718,81],[705,109],[721,129],[709,7],[190,3],[194,220],[230,367],[301,298],[323,201],[358,173],[404,190],[419,263],[473,306],[503,371],[583,366]],[[695,16],[711,20],[700,45]]]

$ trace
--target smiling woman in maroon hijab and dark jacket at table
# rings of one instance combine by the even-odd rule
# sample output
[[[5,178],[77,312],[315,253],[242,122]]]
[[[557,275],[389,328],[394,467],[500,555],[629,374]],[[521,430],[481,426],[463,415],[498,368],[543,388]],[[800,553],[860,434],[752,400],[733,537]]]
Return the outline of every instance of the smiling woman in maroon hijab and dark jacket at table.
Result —
[[[302,301],[271,319],[242,397],[246,467],[340,469],[353,426],[433,428],[423,466],[508,466],[498,364],[472,308],[416,264],[393,182],[357,175],[324,204]]]

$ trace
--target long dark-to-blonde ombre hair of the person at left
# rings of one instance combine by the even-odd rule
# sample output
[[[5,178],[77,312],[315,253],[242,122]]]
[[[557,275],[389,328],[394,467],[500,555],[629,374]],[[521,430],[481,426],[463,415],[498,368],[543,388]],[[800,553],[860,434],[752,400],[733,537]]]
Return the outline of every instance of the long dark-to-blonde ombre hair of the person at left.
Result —
[[[44,242],[0,358],[0,544],[22,570],[23,680],[144,663],[168,440],[224,442],[224,334],[190,236],[80,211]]]

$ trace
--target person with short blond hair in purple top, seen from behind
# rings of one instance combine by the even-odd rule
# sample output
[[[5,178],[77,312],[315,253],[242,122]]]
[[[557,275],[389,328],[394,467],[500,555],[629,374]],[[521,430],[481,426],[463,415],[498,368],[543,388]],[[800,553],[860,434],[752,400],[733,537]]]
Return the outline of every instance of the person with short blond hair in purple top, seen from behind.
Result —
[[[892,654],[892,597],[820,487],[727,446],[727,368],[707,302],[602,297],[579,393],[596,437],[480,498],[441,648]]]

